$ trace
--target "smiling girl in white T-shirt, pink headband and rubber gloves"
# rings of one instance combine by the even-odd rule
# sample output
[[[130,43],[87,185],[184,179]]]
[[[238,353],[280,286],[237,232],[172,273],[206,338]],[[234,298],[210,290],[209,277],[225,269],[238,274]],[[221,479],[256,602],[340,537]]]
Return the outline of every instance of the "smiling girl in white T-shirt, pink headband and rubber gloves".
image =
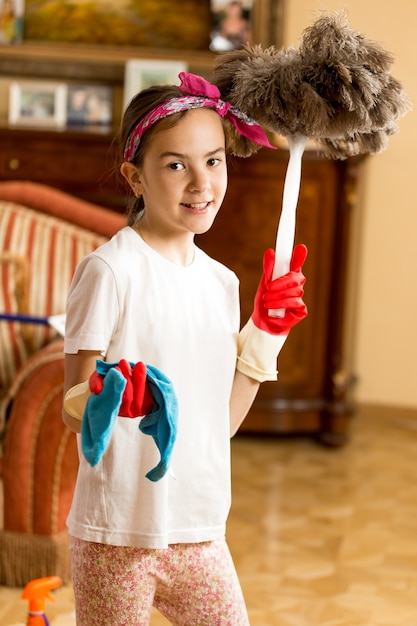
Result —
[[[127,108],[121,173],[136,196],[128,226],[80,263],[68,298],[63,417],[82,430],[68,519],[78,626],[145,626],[152,606],[178,626],[249,623],[225,542],[230,436],[259,384],[276,379],[278,352],[307,314],[305,247],[272,282],[268,250],[239,333],[238,279],[194,236],[222,204],[226,154],[271,146],[214,85],[180,78],[181,87],[150,88]],[[278,308],[283,318],[268,315]],[[106,383],[103,361],[124,391]],[[147,437],[138,426],[155,407],[152,368],[175,397],[171,421],[160,416]],[[123,409],[109,416],[118,394]]]

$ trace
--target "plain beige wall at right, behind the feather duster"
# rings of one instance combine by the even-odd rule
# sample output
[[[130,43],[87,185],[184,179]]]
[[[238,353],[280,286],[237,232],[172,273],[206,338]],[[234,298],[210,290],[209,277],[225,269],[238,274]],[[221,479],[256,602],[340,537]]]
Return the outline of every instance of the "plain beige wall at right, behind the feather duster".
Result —
[[[286,0],[285,45],[296,45],[323,8],[346,8],[353,28],[395,55],[392,74],[417,108],[417,3]],[[412,111],[388,150],[368,164],[355,341],[358,400],[410,408],[417,408],[416,138]]]

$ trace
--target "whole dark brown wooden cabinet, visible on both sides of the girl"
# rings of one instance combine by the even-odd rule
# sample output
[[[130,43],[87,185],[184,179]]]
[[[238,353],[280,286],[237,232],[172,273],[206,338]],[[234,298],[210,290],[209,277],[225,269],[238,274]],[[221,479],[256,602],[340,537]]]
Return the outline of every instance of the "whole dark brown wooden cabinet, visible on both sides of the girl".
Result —
[[[126,192],[114,169],[111,132],[0,129],[0,178],[48,183],[124,211]],[[232,268],[241,281],[242,324],[252,312],[267,247],[274,247],[288,162],[285,149],[261,149],[229,165],[224,205],[197,243]],[[352,217],[361,162],[303,157],[296,241],[309,254],[305,300],[309,315],[279,357],[278,382],[264,383],[242,426],[259,433],[308,433],[343,443],[353,410],[347,337],[349,259],[355,252]]]

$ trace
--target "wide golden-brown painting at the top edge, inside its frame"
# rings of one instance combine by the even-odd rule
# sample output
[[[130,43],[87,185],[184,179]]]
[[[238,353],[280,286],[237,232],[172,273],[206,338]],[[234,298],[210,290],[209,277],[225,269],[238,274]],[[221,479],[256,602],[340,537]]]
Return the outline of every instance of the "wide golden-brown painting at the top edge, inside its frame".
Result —
[[[26,0],[25,39],[207,50],[209,0]]]

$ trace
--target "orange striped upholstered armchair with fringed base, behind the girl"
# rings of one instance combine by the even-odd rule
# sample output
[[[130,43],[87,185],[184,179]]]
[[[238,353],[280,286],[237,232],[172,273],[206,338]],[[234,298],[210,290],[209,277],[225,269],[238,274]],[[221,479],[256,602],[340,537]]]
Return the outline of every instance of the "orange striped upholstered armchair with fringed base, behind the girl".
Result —
[[[123,215],[30,181],[0,182],[0,312],[65,311],[80,259]],[[0,584],[69,580],[65,526],[78,467],[61,419],[63,342],[47,325],[0,321]],[[2,456],[2,458],[1,458]]]

